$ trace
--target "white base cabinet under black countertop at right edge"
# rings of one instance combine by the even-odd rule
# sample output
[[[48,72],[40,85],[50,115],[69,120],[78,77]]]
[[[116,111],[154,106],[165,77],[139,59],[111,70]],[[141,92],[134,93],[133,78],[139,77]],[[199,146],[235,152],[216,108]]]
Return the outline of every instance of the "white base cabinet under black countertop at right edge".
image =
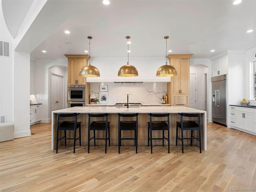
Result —
[[[254,108],[229,106],[229,125],[256,133],[256,111]]]

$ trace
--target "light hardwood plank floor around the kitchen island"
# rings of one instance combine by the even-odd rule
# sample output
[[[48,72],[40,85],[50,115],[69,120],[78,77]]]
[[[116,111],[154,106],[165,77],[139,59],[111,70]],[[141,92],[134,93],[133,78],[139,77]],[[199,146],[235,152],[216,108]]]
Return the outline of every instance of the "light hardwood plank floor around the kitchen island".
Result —
[[[1,192],[256,191],[256,136],[207,123],[208,150],[197,146],[61,146],[51,150],[51,124],[0,143]],[[77,142],[78,143],[78,142]]]

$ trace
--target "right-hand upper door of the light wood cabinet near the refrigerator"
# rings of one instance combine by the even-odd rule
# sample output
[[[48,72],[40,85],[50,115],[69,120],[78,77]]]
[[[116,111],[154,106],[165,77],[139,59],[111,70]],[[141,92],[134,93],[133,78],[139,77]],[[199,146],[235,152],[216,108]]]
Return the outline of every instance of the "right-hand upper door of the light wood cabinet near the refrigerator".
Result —
[[[189,94],[189,59],[180,59],[180,93]]]

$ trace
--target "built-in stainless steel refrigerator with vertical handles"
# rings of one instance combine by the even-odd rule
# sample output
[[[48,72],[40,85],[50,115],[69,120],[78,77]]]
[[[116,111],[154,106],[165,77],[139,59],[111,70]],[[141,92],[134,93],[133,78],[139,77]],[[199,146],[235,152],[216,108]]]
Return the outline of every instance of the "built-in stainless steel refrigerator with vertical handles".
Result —
[[[227,126],[226,74],[212,77],[212,122]]]

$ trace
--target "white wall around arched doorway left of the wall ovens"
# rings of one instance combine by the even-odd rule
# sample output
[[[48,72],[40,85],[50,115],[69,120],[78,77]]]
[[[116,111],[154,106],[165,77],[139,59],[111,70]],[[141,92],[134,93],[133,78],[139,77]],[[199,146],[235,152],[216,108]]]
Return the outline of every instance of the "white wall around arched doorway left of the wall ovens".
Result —
[[[68,59],[38,59],[35,62],[35,96],[39,103],[42,103],[42,121],[50,122],[50,74],[58,74],[64,76],[64,87],[68,85]],[[64,90],[67,93],[67,90]],[[66,94],[64,94],[66,96]],[[39,100],[42,97],[42,100]],[[64,98],[65,106],[67,108],[67,97]]]

